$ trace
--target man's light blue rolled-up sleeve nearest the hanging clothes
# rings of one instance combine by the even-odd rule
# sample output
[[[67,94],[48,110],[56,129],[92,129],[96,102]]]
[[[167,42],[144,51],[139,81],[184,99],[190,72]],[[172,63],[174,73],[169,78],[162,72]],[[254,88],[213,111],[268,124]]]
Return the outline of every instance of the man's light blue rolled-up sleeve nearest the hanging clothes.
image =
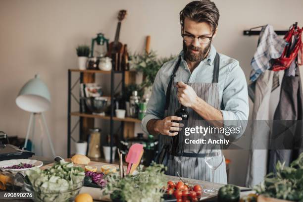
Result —
[[[223,125],[224,127],[240,126],[241,133],[235,137],[239,138],[247,125],[249,100],[245,74],[238,61],[230,66],[224,86],[222,98],[224,110],[221,110]]]

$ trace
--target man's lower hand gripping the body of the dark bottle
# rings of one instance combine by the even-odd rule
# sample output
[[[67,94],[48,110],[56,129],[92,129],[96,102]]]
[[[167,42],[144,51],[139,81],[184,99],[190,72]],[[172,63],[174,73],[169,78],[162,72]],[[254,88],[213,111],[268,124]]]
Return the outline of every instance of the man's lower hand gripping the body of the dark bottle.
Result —
[[[168,116],[163,120],[157,120],[154,124],[154,130],[158,133],[161,133],[162,135],[168,135],[168,136],[178,135],[178,132],[173,132],[173,131],[182,130],[181,127],[183,127],[184,125],[182,123],[172,122],[173,120],[181,121],[182,118],[178,116]]]

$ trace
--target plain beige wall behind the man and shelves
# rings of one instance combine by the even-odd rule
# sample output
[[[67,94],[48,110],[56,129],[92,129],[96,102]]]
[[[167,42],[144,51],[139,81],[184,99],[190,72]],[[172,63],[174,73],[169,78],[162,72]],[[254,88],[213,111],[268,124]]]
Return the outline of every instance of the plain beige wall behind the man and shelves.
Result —
[[[90,44],[97,32],[113,39],[116,15],[127,9],[120,41],[132,51],[141,51],[146,35],[159,55],[181,49],[179,11],[189,0],[1,0],[0,1],[0,130],[25,137],[29,113],[15,104],[22,85],[35,73],[47,83],[51,110],[46,113],[56,153],[66,156],[67,69],[77,67],[75,47]],[[214,45],[234,57],[248,78],[257,37],[243,36],[251,27],[272,24],[287,29],[303,19],[302,0],[215,0],[221,14]],[[76,79],[76,76],[73,77]],[[109,82],[100,76],[103,86]],[[75,92],[77,94],[77,91]],[[75,110],[77,107],[74,105]],[[101,121],[97,121],[101,124]],[[107,129],[105,129],[106,131]],[[36,145],[40,131],[36,130]],[[77,134],[74,135],[77,137]],[[37,151],[41,154],[41,151]],[[50,155],[44,140],[44,154]],[[243,185],[247,152],[231,151],[231,182]]]

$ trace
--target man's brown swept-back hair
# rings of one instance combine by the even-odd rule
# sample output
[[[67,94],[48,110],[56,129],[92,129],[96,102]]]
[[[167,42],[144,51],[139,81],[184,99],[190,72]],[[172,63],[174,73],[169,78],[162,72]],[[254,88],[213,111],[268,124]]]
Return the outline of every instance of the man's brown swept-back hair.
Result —
[[[184,28],[185,18],[189,18],[195,22],[206,22],[210,25],[214,33],[219,22],[219,10],[211,0],[195,0],[188,3],[183,10],[180,11],[180,24],[182,32]]]

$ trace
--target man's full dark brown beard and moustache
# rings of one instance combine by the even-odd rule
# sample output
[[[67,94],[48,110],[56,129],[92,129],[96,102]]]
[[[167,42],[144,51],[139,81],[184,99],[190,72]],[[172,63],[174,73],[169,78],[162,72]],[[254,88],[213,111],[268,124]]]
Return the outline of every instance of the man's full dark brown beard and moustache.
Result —
[[[210,44],[211,43],[208,43],[208,45],[204,49],[202,49],[194,47],[193,45],[186,46],[185,42],[183,42],[183,51],[185,59],[188,59],[191,62],[198,62],[203,60],[206,57],[208,50],[210,49]],[[191,50],[197,50],[199,51],[199,53],[192,53]]]

